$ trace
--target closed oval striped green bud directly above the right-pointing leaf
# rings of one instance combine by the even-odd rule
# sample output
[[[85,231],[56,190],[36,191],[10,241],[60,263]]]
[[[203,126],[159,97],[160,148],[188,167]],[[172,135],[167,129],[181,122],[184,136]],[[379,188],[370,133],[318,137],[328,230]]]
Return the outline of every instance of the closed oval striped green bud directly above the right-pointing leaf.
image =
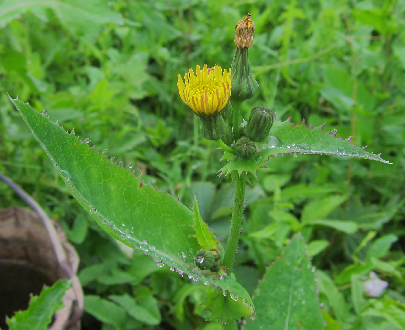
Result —
[[[270,129],[273,126],[273,111],[265,106],[258,106],[250,112],[249,120],[246,124],[245,133],[250,140],[262,142],[266,140]]]

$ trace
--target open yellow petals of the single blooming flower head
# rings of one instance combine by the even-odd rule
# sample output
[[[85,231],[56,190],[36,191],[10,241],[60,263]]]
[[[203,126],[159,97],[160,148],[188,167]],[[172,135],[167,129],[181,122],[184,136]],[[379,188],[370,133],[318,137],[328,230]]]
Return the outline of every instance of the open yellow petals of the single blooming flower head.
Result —
[[[196,66],[196,74],[193,69],[188,70],[184,82],[177,75],[180,97],[197,115],[220,112],[230,98],[230,75],[230,69],[222,72],[216,64],[214,68],[204,64],[203,70]]]

